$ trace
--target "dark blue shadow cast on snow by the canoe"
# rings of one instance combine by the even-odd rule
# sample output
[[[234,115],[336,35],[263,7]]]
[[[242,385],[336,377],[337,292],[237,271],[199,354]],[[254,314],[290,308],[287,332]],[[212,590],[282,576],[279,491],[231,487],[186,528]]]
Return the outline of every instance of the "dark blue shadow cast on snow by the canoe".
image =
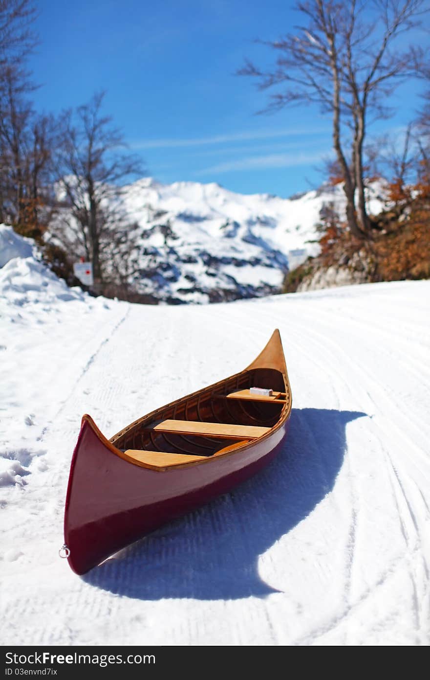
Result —
[[[357,411],[292,409],[278,456],[255,477],[133,543],[82,577],[142,600],[237,599],[277,592],[258,559],[332,490]]]

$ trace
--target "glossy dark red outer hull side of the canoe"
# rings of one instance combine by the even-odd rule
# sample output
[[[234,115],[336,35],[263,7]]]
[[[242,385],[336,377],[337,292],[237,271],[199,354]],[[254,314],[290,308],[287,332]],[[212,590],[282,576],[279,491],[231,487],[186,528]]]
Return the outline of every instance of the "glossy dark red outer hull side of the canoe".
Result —
[[[155,471],[116,455],[85,417],[73,452],[65,508],[69,564],[84,574],[169,520],[234,488],[262,469],[283,445],[288,419],[240,455]]]

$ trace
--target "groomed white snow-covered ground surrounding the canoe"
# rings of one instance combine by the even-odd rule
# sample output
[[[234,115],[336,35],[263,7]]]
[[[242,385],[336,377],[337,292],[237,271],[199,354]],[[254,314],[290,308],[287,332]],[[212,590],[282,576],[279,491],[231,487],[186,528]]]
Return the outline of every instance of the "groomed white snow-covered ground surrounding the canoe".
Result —
[[[430,282],[145,307],[0,269],[2,642],[429,643]],[[82,413],[110,437],[279,327],[285,448],[84,577],[58,557]]]

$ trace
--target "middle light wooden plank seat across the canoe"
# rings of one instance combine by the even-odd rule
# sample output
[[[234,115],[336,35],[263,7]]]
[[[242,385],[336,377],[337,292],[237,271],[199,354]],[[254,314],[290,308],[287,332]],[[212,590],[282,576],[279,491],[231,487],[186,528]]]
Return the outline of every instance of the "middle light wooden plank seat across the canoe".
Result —
[[[204,423],[195,420],[162,420],[149,427],[156,432],[176,432],[181,435],[203,435],[221,439],[257,439],[270,431],[268,427],[255,425],[231,425],[228,423]]]

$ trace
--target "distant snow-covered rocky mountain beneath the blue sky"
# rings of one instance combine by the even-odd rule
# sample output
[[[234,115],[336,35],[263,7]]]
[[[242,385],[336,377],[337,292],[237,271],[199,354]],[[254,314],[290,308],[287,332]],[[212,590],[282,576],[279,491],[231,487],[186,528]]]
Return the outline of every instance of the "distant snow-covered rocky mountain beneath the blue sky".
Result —
[[[376,211],[379,189],[374,185],[370,191]],[[319,251],[315,224],[330,202],[342,213],[341,186],[281,199],[236,194],[218,184],[139,180],[124,193],[135,223],[128,233],[135,244],[126,256],[128,282],[140,294],[168,302],[279,292],[287,269]]]

